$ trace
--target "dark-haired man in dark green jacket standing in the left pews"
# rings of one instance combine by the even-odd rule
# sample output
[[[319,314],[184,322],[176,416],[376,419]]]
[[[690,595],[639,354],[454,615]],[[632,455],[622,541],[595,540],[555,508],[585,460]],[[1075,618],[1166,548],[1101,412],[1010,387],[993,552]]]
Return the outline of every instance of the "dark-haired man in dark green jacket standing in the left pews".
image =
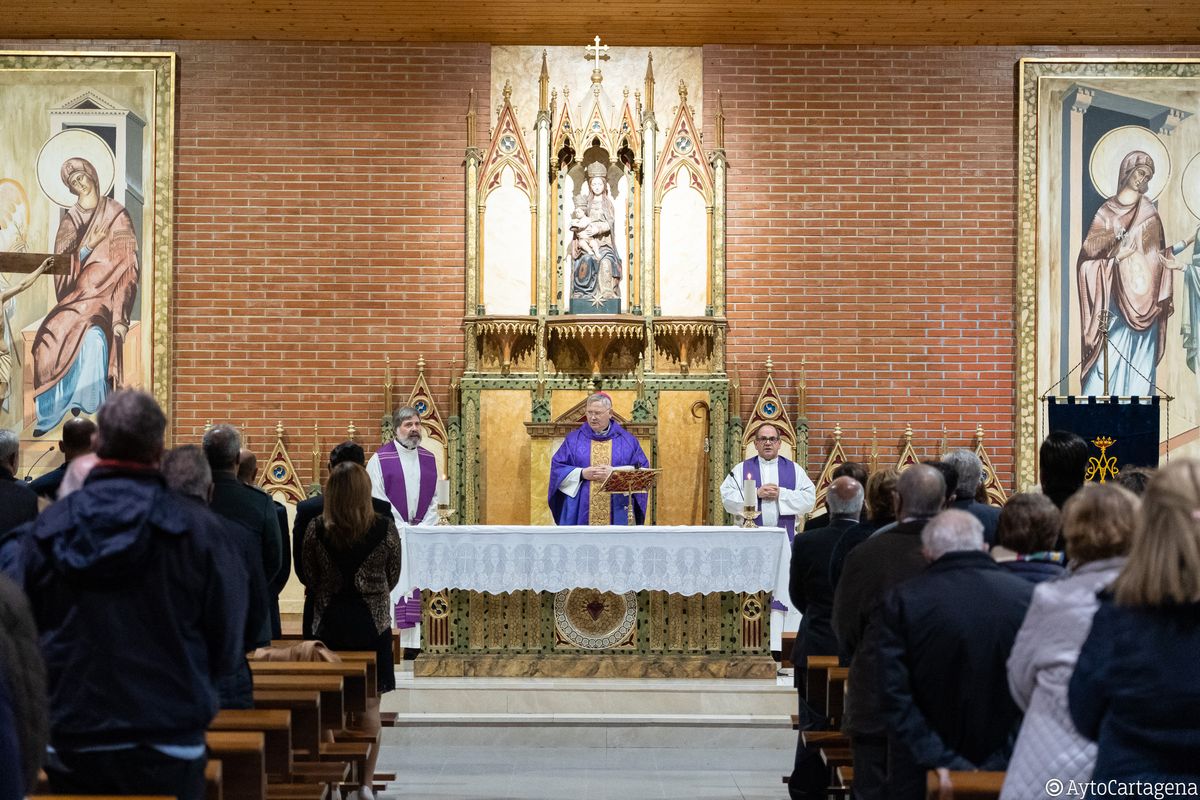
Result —
[[[262,553],[263,575],[269,587],[268,601],[271,603],[265,627],[265,636],[270,639],[280,630],[280,599],[275,587],[282,589],[282,584],[277,578],[281,572],[292,569],[283,564],[283,531],[275,513],[275,501],[266,492],[238,480],[241,459],[241,433],[238,428],[232,425],[209,428],[204,434],[204,456],[212,469],[209,507],[226,519],[240,523],[246,529],[244,535],[248,535]]]

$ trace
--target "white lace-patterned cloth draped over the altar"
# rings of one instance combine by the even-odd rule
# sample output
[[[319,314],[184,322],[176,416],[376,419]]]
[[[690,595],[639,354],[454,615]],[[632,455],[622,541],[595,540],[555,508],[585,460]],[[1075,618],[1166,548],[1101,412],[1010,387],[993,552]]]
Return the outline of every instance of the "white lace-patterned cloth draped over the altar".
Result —
[[[406,525],[404,549],[412,584],[434,591],[769,591],[788,602],[782,528]]]

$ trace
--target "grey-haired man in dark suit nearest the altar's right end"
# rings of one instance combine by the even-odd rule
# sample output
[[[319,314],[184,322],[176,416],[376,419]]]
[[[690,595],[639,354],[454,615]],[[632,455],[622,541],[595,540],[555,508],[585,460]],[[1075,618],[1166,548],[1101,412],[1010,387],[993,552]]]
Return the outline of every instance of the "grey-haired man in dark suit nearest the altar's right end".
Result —
[[[809,656],[838,655],[838,638],[830,621],[833,584],[829,567],[834,547],[847,530],[858,524],[858,516],[863,510],[863,485],[848,475],[838,477],[829,485],[826,507],[829,512],[828,524],[803,531],[792,542],[788,595],[792,608],[804,615],[792,645],[802,732],[827,726],[827,720],[804,697],[804,664]],[[796,765],[792,768],[787,790],[793,800],[824,796],[828,776],[821,763],[820,751],[805,748],[802,742],[803,735],[796,742]]]

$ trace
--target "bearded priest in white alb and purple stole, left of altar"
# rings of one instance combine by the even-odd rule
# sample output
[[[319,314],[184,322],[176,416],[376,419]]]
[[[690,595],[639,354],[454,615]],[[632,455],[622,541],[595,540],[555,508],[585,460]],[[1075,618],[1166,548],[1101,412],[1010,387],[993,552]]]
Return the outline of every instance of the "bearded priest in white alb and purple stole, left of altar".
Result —
[[[396,438],[377,450],[367,461],[372,497],[391,505],[391,516],[400,531],[401,553],[404,549],[404,525],[436,525],[438,505],[433,500],[437,491],[438,463],[433,453],[421,447],[421,415],[406,405],[392,416]],[[391,590],[391,602],[396,609],[395,621],[400,630],[400,644],[404,648],[421,646],[421,591],[409,584],[408,559],[400,563],[400,581]]]

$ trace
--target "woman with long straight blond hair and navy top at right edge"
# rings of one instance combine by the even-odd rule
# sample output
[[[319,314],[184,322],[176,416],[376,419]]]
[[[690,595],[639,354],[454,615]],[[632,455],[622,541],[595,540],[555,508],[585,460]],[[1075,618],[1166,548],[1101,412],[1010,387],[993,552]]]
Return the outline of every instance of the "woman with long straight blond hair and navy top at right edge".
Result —
[[[1070,717],[1097,742],[1092,781],[1187,781],[1200,793],[1200,462],[1150,481],[1129,558],[1102,597],[1070,679]]]

